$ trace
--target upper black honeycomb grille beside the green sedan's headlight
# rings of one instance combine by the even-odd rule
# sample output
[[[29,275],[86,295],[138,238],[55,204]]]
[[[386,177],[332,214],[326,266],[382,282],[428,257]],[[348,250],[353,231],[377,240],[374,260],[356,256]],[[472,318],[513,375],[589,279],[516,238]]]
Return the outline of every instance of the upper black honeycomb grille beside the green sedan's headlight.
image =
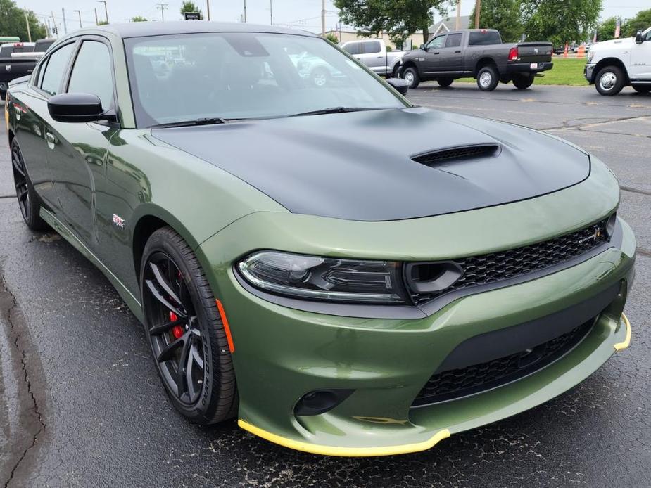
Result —
[[[607,223],[608,219],[604,219],[580,231],[522,248],[453,259],[451,262],[462,271],[460,278],[447,288],[431,293],[418,293],[415,284],[436,276],[437,263],[410,264],[407,283],[412,300],[423,304],[455,290],[504,281],[566,262],[608,242]]]

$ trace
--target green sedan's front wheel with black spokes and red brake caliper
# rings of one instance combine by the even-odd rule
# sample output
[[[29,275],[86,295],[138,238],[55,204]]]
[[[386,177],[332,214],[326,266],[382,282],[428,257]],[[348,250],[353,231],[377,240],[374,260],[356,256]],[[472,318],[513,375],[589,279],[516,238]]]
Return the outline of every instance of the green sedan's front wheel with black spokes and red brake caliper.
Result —
[[[235,371],[215,296],[194,252],[170,227],[147,241],[140,286],[146,337],[172,404],[199,425],[234,417]]]

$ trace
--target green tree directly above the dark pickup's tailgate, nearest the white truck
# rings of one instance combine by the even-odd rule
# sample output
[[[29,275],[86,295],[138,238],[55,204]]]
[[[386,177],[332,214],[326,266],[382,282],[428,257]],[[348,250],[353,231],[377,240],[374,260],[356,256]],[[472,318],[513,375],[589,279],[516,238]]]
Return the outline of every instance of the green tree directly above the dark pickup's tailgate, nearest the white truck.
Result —
[[[602,0],[524,0],[522,6],[526,37],[557,46],[594,32]]]

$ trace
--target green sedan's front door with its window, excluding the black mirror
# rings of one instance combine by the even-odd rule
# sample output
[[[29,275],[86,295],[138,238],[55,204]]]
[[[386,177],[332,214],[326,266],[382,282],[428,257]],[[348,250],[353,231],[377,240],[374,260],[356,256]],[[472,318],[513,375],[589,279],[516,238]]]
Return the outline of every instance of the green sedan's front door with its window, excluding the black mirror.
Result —
[[[84,37],[75,52],[64,92],[99,96],[103,110],[115,109],[113,59],[108,41]],[[108,140],[118,130],[109,122],[54,122],[46,127],[47,158],[65,224],[96,250],[96,186],[106,173]]]

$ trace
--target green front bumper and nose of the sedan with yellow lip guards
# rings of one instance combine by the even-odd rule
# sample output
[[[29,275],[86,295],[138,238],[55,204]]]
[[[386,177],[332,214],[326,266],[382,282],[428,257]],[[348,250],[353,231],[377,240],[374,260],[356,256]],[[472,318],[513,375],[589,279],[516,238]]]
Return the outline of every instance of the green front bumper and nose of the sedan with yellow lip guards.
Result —
[[[635,238],[620,220],[621,240],[591,259],[462,297],[420,318],[341,316],[274,304],[237,281],[232,269],[237,257],[260,248],[398,260],[441,259],[450,249],[473,255],[585,226],[612,212],[617,195],[612,175],[595,162],[590,178],[579,185],[473,212],[380,223],[260,212],[231,224],[197,255],[233,335],[239,425],[301,451],[379,456],[428,449],[455,432],[541,404],[628,345],[630,332],[620,317],[633,281]],[[543,225],[545,215],[554,217]],[[412,408],[423,385],[465,340],[581,307],[614,287],[619,292],[603,304],[590,333],[561,359],[495,390]],[[353,393],[326,413],[294,413],[304,394],[326,389]]]

